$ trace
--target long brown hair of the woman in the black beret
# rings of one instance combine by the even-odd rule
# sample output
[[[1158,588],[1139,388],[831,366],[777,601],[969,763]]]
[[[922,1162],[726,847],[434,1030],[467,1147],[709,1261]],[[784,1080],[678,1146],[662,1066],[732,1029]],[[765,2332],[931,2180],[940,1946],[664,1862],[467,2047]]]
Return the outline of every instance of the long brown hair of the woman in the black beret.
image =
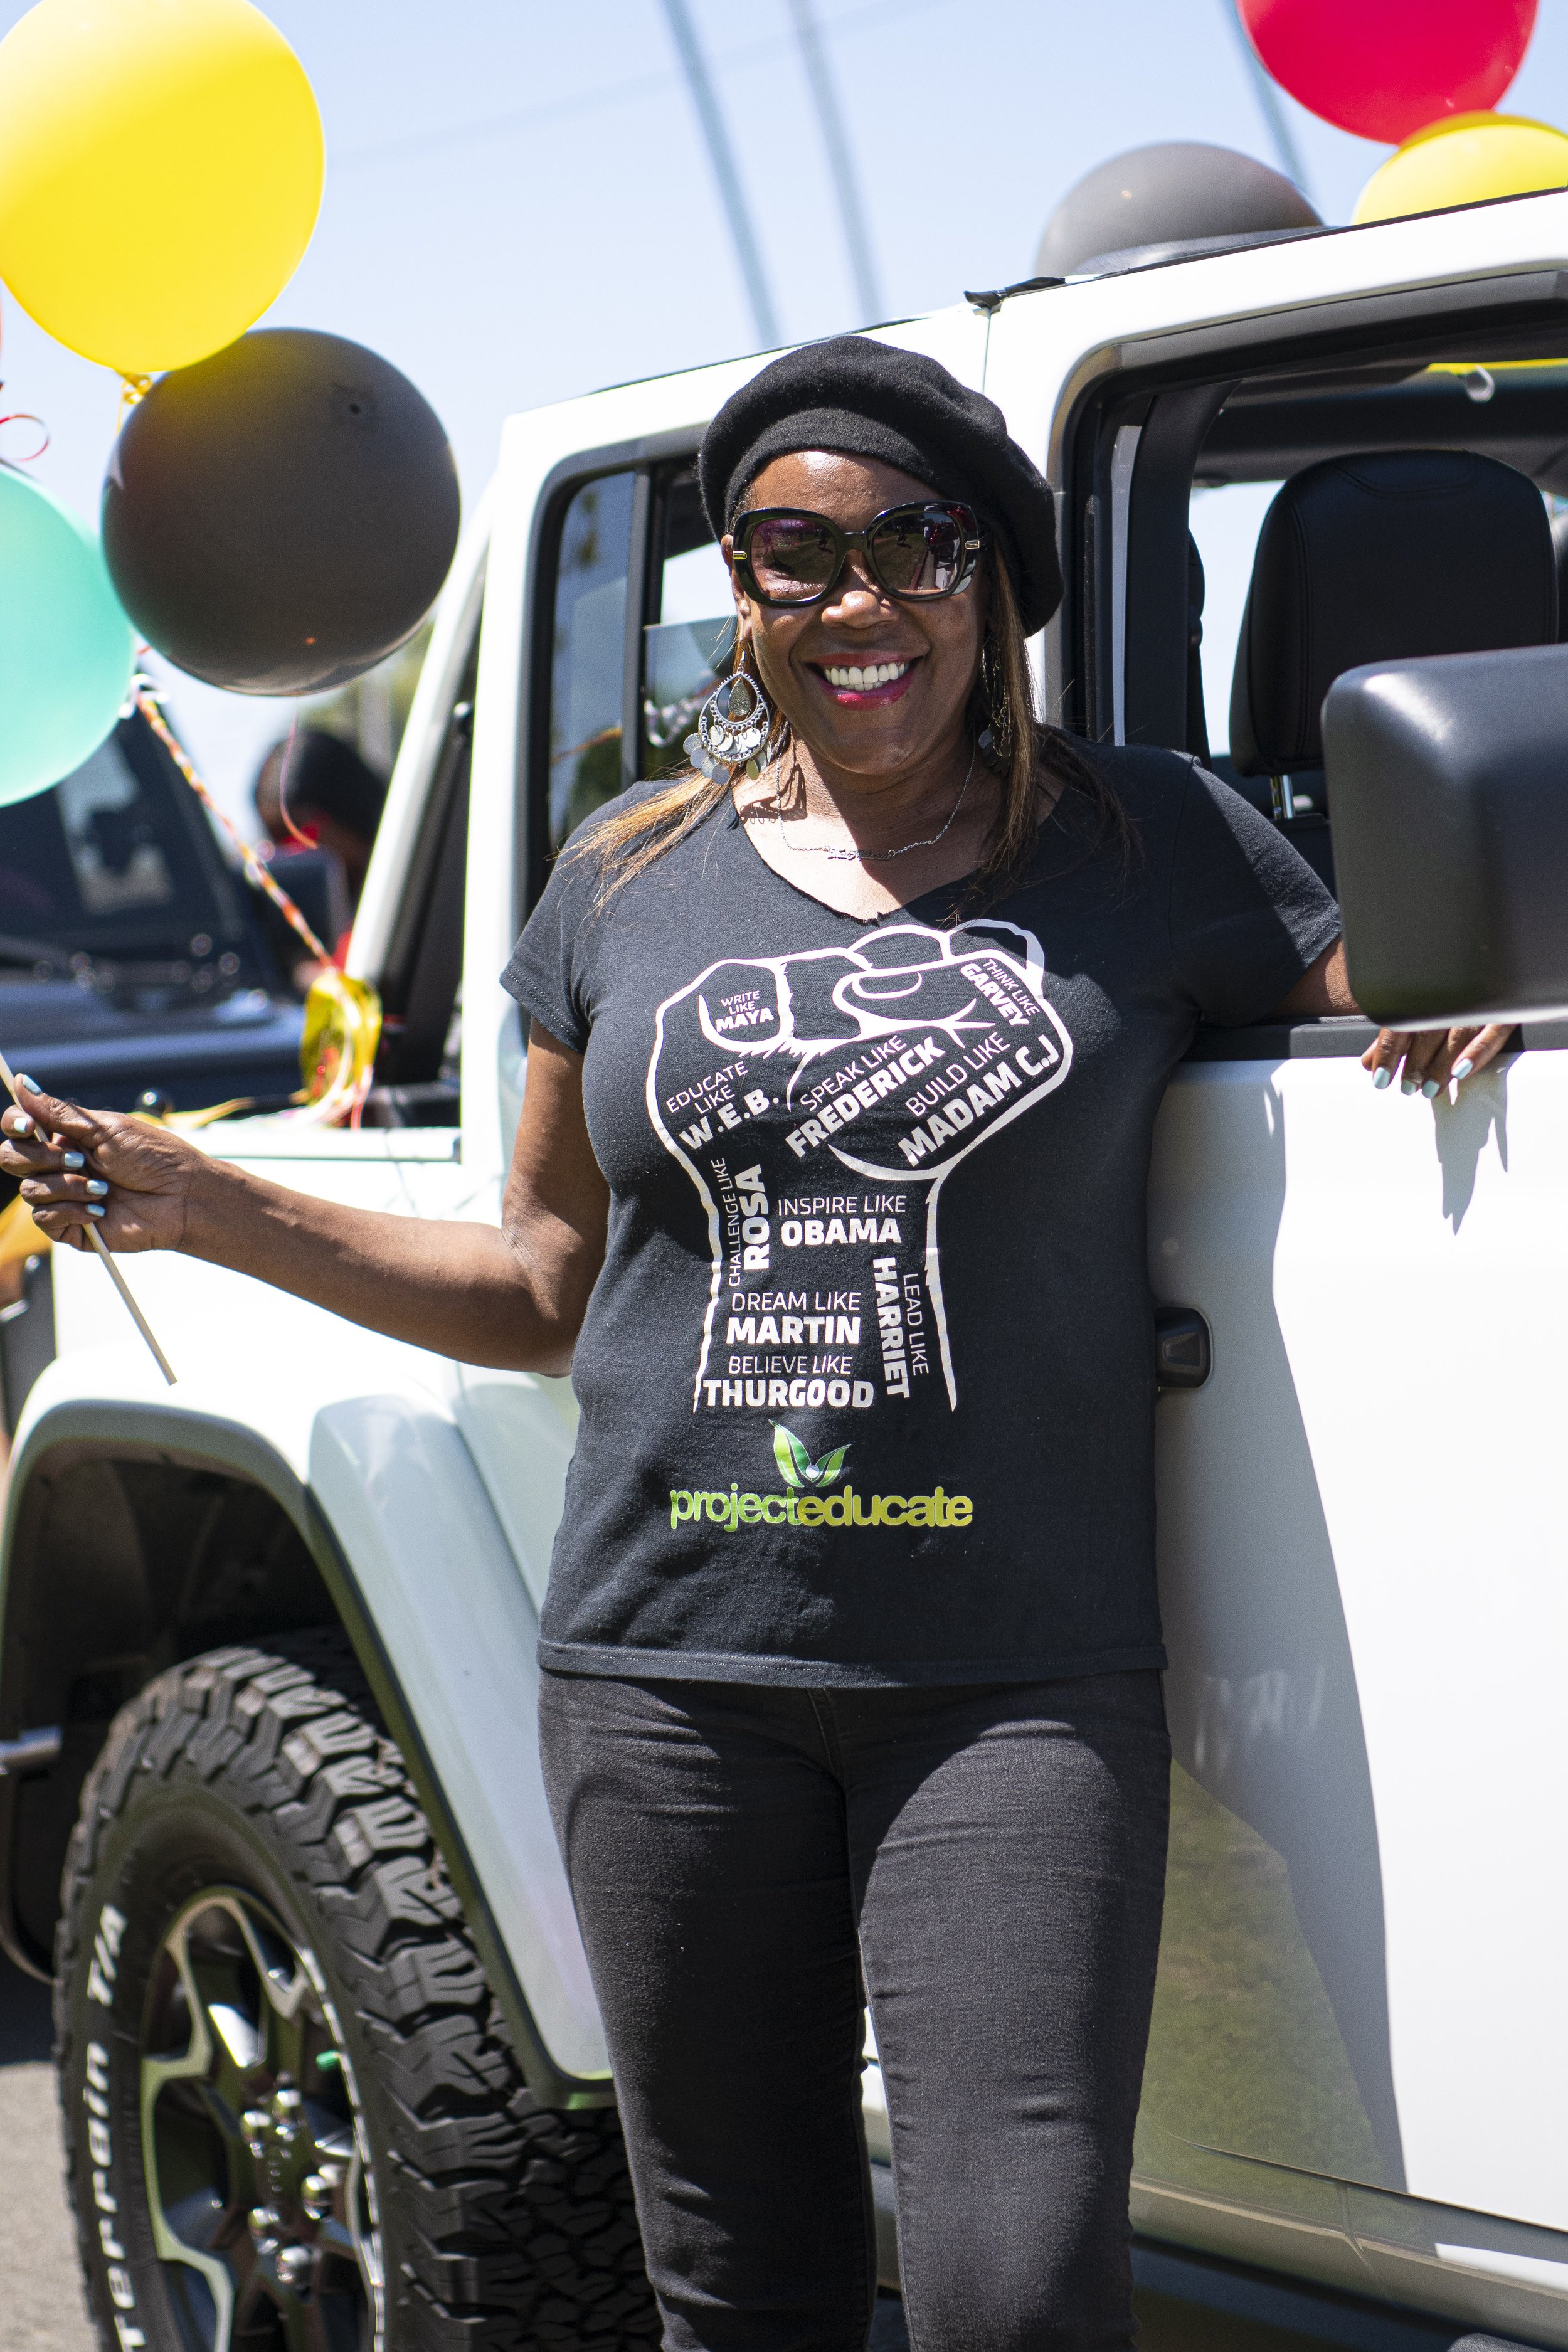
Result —
[[[1126,811],[1098,767],[1060,727],[1039,722],[1013,583],[994,553],[985,557],[985,567],[990,609],[966,717],[980,757],[1001,783],[1001,814],[964,891],[966,906],[1004,896],[1023,875],[1041,823],[1041,797],[1053,786],[1058,797],[1077,795],[1084,804],[1074,811],[1074,833],[1086,837],[1086,856],[1112,842],[1126,866],[1133,847]],[[736,670],[743,652],[743,640],[736,640]],[[590,854],[599,863],[599,903],[696,833],[729,800],[729,788],[731,779],[724,774],[684,769],[658,793],[642,795],[630,809],[585,833],[569,854]]]

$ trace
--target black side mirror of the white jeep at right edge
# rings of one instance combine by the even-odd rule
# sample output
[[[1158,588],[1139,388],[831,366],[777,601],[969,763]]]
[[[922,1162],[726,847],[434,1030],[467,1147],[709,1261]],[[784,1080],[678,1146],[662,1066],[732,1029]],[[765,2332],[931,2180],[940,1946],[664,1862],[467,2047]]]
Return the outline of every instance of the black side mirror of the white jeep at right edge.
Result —
[[[1568,1009],[1568,644],[1347,670],[1324,701],[1349,985],[1382,1028]]]

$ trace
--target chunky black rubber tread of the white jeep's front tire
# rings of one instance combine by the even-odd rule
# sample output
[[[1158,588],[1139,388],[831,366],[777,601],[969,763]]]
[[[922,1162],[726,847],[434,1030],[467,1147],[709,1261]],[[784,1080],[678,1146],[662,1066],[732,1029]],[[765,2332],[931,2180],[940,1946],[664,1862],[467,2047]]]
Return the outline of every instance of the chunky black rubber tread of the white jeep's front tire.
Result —
[[[223,1783],[320,1919],[390,2117],[390,2352],[635,2352],[658,2343],[614,2107],[562,2114],[524,2084],[461,1905],[364,1675],[336,1632],[223,1649],[160,1675],[115,1717],[82,1788],[56,1933],[56,2060],[92,1879],[141,1773]],[[66,2178],[87,2277],[92,2197],[66,2103]],[[106,2347],[115,2336],[99,2314]],[[162,2347],[158,2347],[162,2352]]]

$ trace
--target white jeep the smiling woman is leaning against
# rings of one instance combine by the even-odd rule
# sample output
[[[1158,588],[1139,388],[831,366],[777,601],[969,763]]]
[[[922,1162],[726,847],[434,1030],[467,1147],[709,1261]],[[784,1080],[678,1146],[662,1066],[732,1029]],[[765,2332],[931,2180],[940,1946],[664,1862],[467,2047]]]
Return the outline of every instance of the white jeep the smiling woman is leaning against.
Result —
[[[1098,739],[1218,741],[1260,485],[1458,449],[1535,482],[1542,527],[1568,494],[1568,195],[1112,256],[877,332],[1048,470],[1041,684]],[[496,976],[567,830],[682,757],[729,609],[693,452],[757,365],[510,421],[355,927],[364,1124],[228,1120],[214,1152],[498,1216],[527,1035]],[[1486,546],[1460,604],[1472,574],[1483,602]],[[1495,642],[1312,590],[1347,661]],[[1241,701],[1293,675],[1281,630],[1260,593]],[[1328,870],[1298,720],[1288,750],[1241,710],[1227,774]],[[1368,1037],[1199,1033],[1159,1120],[1178,1769],[1138,2263],[1347,2345],[1568,2345],[1568,1025],[1453,1103],[1378,1094]],[[0,1590],[0,1943],[56,1980],[106,2352],[654,2343],[536,1757],[571,1390],[179,1256],[132,1275],[179,1385],[56,1254]]]

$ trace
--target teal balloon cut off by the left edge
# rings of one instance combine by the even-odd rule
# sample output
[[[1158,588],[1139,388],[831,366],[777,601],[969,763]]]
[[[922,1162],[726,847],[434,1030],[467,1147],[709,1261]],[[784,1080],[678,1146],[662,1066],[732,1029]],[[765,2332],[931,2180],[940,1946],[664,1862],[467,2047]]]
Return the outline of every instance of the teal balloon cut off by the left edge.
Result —
[[[0,466],[0,807],[92,757],[120,717],[134,654],[94,534]]]

